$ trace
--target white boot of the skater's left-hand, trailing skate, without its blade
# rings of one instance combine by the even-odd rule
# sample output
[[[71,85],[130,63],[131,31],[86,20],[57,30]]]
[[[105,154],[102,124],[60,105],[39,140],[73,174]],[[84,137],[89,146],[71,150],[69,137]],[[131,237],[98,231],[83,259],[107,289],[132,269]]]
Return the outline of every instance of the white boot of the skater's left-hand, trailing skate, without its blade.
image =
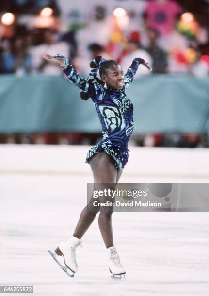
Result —
[[[70,237],[65,241],[61,241],[57,249],[56,254],[64,257],[64,264],[74,273],[78,271],[78,265],[76,262],[76,249],[81,245],[81,240],[77,237]]]

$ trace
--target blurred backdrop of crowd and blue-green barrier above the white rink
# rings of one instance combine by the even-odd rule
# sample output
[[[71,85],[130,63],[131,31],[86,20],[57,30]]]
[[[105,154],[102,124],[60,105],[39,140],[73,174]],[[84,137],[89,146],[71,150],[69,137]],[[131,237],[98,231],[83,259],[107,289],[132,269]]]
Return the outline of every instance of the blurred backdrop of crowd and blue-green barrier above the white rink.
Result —
[[[96,55],[140,67],[128,95],[130,144],[209,146],[209,1],[0,1],[0,143],[93,145],[92,102],[43,54],[63,54],[87,77]]]

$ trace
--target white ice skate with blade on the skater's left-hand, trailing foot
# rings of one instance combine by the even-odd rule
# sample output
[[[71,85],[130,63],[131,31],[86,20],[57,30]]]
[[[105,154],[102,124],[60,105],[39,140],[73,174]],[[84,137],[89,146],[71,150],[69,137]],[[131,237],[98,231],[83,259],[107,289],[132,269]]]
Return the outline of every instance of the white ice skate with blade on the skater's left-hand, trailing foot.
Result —
[[[78,271],[78,265],[76,262],[76,249],[78,246],[82,246],[81,240],[77,237],[70,237],[65,241],[61,241],[55,250],[55,253],[48,250],[49,254],[69,277],[74,277],[74,274]],[[56,255],[63,256],[65,266],[57,260]]]

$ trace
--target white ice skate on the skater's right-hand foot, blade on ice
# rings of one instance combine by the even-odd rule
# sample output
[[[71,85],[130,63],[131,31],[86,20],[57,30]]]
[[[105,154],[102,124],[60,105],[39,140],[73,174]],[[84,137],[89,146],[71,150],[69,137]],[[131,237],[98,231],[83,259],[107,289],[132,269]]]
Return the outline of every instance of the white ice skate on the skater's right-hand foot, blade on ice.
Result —
[[[126,269],[121,265],[120,257],[117,253],[116,248],[113,246],[108,248],[107,251],[108,251],[109,269],[110,269],[110,272],[112,273],[111,278],[124,280]]]

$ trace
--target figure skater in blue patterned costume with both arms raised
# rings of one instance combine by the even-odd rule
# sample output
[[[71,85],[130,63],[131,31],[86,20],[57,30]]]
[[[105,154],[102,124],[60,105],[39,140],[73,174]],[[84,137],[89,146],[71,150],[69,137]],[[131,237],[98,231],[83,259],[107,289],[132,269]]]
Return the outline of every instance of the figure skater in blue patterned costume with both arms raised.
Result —
[[[103,139],[88,151],[86,163],[90,164],[93,172],[94,189],[102,190],[108,184],[109,188],[114,190],[128,162],[128,142],[133,132],[133,104],[126,96],[125,90],[132,82],[140,64],[149,70],[151,68],[144,59],[135,58],[124,75],[117,62],[97,56],[90,63],[89,78],[84,79],[64,56],[44,55],[43,57],[47,60],[56,60],[61,65],[67,78],[81,89],[81,99],[91,98],[94,102],[102,126]],[[97,77],[98,69],[100,79]],[[74,273],[78,271],[76,249],[81,245],[81,237],[99,212],[98,225],[107,248],[111,277],[124,278],[126,269],[122,266],[113,244],[113,207],[93,207],[93,201],[92,197],[82,210],[72,237],[60,242],[55,253],[48,252],[69,276],[74,276]],[[99,197],[99,201],[102,203],[114,201],[114,199],[111,196],[105,196]],[[65,266],[61,265],[56,255],[63,256]]]

